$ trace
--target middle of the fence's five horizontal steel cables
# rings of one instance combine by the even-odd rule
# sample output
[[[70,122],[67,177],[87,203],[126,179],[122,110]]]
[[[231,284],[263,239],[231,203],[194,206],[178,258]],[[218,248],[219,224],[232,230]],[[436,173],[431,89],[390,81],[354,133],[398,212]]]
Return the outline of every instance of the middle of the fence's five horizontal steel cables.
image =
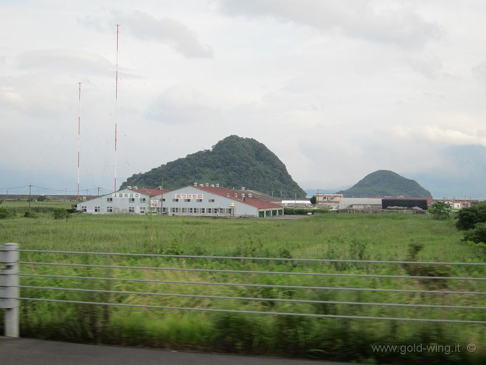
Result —
[[[252,287],[252,288],[343,290],[343,291],[357,291],[357,292],[408,292],[408,293],[428,293],[428,294],[477,294],[477,295],[485,295],[486,294],[486,292],[455,292],[455,291],[411,290],[411,289],[336,288],[336,287],[315,287],[315,286],[299,286],[299,285],[213,283],[213,282],[204,282],[204,281],[176,281],[176,280],[155,280],[155,279],[131,279],[131,278],[117,278],[117,277],[73,276],[73,275],[51,275],[51,274],[24,274],[24,273],[18,273],[16,275],[17,276],[29,276],[29,277],[51,277],[51,278],[62,278],[62,279],[131,281],[131,282],[160,283],[160,284],[217,285],[217,286],[233,286],[233,287],[236,286],[236,287]]]

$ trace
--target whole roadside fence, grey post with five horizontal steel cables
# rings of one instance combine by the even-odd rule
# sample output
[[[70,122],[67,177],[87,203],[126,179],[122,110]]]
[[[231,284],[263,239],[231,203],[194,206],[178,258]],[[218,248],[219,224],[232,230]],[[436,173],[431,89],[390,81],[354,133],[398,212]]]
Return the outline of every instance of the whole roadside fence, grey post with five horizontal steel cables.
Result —
[[[152,270],[152,271],[178,271],[178,272],[198,272],[216,274],[270,274],[270,275],[298,275],[298,276],[320,276],[320,277],[362,277],[379,279],[417,279],[417,280],[465,280],[465,281],[485,281],[486,277],[470,276],[425,276],[425,275],[382,275],[382,274],[340,274],[323,272],[281,272],[281,271],[254,271],[254,270],[224,270],[224,269],[197,269],[186,267],[147,267],[147,266],[121,266],[121,265],[95,265],[78,263],[56,263],[56,262],[35,262],[20,261],[21,253],[39,253],[53,255],[88,255],[88,256],[132,256],[132,257],[161,257],[176,259],[209,259],[209,260],[251,260],[258,261],[284,261],[302,263],[352,263],[352,264],[395,264],[395,265],[461,265],[485,267],[486,263],[471,262],[418,262],[418,261],[380,261],[380,260],[345,260],[345,259],[317,259],[317,258],[270,258],[270,257],[236,257],[236,256],[191,256],[191,255],[156,255],[156,254],[123,254],[123,253],[101,253],[101,252],[75,252],[75,251],[41,251],[41,250],[21,250],[16,243],[6,243],[0,246],[0,264],[3,266],[0,272],[0,308],[5,309],[5,336],[18,337],[19,335],[19,301],[39,301],[55,303],[72,303],[98,306],[120,306],[135,308],[151,308],[160,310],[193,310],[208,312],[243,313],[258,315],[277,315],[277,316],[299,316],[316,318],[343,318],[360,320],[387,320],[387,321],[413,321],[413,322],[441,322],[441,323],[463,323],[485,325],[486,321],[456,320],[456,319],[434,319],[434,318],[401,318],[401,317],[376,317],[358,315],[337,315],[337,314],[315,314],[298,312],[278,312],[278,311],[256,311],[256,310],[229,310],[214,308],[192,308],[192,307],[173,307],[156,305],[139,305],[127,303],[110,302],[91,302],[76,300],[60,300],[48,298],[34,298],[20,296],[20,289],[41,289],[65,292],[91,292],[106,294],[127,294],[127,295],[150,295],[159,297],[186,297],[204,298],[210,300],[242,300],[242,301],[266,301],[266,302],[288,302],[305,304],[339,304],[356,306],[382,306],[382,307],[406,307],[406,308],[430,308],[430,309],[460,309],[460,310],[486,310],[483,306],[459,306],[459,305],[432,305],[432,304],[405,304],[405,303],[368,303],[352,301],[326,301],[326,300],[307,300],[307,299],[285,299],[285,298],[260,298],[242,296],[218,296],[218,295],[196,295],[180,294],[167,292],[133,292],[133,291],[111,291],[81,288],[59,288],[46,286],[20,285],[19,277],[39,277],[39,278],[66,278],[79,280],[105,280],[105,281],[126,281],[144,282],[158,284],[175,285],[204,285],[204,286],[226,286],[226,287],[254,287],[254,288],[277,288],[277,289],[305,289],[313,291],[354,291],[354,292],[402,292],[402,293],[423,293],[423,294],[459,294],[459,295],[486,295],[486,292],[477,291],[450,291],[450,290],[420,290],[420,289],[378,289],[378,288],[354,288],[354,287],[324,287],[324,286],[302,286],[302,285],[270,285],[261,283],[233,283],[233,282],[207,282],[207,281],[179,281],[179,280],[156,280],[156,279],[137,279],[120,277],[98,277],[98,276],[77,276],[77,275],[54,275],[54,274],[30,274],[20,273],[19,265],[38,265],[55,267],[73,268],[105,268],[105,269],[131,269],[131,270]]]

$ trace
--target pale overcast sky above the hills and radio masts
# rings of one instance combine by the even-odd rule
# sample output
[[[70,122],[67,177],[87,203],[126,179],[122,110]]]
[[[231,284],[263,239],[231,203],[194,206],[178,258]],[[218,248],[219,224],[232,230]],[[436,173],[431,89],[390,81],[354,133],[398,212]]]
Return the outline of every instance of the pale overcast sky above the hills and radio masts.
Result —
[[[484,1],[0,1],[0,194],[113,188],[230,134],[304,189],[486,145]],[[16,192],[16,190],[11,190]],[[18,192],[19,190],[17,190]]]

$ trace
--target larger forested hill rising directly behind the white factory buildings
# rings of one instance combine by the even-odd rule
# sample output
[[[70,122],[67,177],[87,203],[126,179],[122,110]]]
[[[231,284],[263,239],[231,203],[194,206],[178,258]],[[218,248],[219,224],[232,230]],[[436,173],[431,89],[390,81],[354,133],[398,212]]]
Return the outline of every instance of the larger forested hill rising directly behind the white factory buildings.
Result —
[[[305,196],[285,165],[265,145],[253,138],[235,135],[219,141],[211,150],[187,155],[152,170],[131,176],[121,184],[156,188],[164,179],[164,188],[171,190],[199,183],[254,189],[274,196]]]

